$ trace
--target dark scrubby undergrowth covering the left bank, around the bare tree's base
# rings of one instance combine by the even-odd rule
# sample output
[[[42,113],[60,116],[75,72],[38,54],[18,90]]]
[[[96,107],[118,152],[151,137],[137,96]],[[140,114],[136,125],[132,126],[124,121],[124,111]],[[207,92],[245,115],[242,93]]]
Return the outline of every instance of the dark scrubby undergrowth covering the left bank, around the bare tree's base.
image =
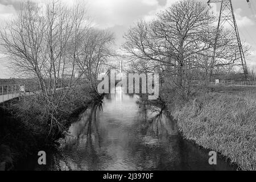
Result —
[[[55,129],[52,129],[51,115],[41,94],[15,98],[0,107],[0,167],[11,169],[13,162],[33,154],[39,147],[54,144],[54,140],[70,125],[71,118],[96,98],[101,99],[86,85],[79,86],[63,98],[55,108],[55,117],[61,128],[54,126]],[[52,102],[56,104],[58,100]],[[10,148],[10,152],[2,155],[6,148]]]

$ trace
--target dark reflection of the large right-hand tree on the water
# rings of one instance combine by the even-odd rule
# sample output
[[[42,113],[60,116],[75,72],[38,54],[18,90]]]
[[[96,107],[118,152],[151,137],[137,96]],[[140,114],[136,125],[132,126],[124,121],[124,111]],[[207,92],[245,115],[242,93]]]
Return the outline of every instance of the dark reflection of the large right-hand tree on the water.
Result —
[[[180,166],[179,135],[176,123],[165,114],[164,105],[139,100],[139,115],[135,123],[130,155],[138,169],[170,169]],[[139,148],[139,150],[138,150]]]

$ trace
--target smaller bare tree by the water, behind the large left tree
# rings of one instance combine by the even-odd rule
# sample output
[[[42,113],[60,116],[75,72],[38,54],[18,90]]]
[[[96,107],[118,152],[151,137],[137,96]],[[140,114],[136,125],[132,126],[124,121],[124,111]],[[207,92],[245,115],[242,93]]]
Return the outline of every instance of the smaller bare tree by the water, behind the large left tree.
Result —
[[[81,75],[88,79],[91,88],[97,91],[97,78],[102,68],[108,67],[108,59],[113,57],[111,49],[114,43],[112,33],[91,28],[84,36],[76,64]]]

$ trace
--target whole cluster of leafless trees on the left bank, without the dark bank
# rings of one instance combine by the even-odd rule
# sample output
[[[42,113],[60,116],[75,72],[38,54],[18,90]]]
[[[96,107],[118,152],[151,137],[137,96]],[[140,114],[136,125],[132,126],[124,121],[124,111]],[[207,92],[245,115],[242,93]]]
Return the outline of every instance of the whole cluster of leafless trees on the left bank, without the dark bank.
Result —
[[[0,31],[9,64],[23,77],[33,78],[37,88],[36,98],[20,105],[36,102],[32,109],[50,122],[49,135],[61,131],[65,107],[76,105],[73,96],[84,84],[89,85],[82,88],[84,93],[97,94],[97,75],[113,56],[113,35],[90,26],[85,15],[83,3],[68,7],[52,0],[42,7],[27,1]]]

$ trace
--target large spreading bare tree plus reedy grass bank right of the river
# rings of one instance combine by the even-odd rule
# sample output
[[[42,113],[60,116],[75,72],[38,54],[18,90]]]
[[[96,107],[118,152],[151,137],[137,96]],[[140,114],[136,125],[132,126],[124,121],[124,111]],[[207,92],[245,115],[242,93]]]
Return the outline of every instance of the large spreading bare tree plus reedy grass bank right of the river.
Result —
[[[244,79],[230,66],[240,57],[225,28],[217,36],[213,62],[216,20],[205,2],[181,0],[151,22],[141,20],[131,27],[123,50],[134,71],[160,73],[159,99],[175,115],[185,138],[221,152],[241,169],[252,170],[256,168],[256,94],[230,96],[192,83],[201,80],[207,84],[224,75]],[[254,80],[253,71],[249,78]]]

